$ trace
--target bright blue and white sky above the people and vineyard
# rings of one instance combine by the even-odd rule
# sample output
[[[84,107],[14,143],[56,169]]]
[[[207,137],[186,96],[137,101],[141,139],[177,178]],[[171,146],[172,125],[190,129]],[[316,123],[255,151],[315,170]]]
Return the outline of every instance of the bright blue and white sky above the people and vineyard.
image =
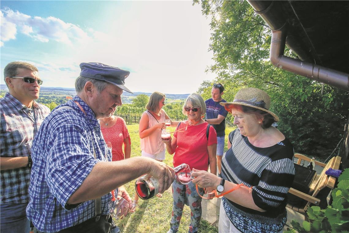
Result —
[[[74,87],[81,62],[131,71],[135,92],[195,92],[213,61],[210,20],[192,1],[0,1],[3,68],[36,65],[46,87]]]

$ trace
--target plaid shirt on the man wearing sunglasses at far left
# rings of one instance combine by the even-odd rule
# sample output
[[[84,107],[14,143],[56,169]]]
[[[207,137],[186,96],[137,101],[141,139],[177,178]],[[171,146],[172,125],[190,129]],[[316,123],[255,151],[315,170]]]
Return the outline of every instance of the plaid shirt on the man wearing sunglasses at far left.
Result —
[[[39,126],[50,109],[33,102],[34,115],[10,93],[0,99],[1,157],[24,157],[31,154],[30,147]],[[30,168],[1,170],[1,203],[29,202]]]

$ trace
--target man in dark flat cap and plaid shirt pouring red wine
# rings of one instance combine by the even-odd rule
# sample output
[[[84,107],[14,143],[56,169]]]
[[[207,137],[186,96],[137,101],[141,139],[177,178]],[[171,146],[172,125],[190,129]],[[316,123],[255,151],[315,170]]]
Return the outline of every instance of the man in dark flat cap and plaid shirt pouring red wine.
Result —
[[[77,95],[47,116],[33,141],[27,216],[39,232],[110,232],[113,196],[132,206],[123,184],[148,173],[164,192],[174,180],[173,169],[153,159],[111,162],[97,119],[114,113],[123,90],[131,92],[129,72],[101,63],[80,68]]]

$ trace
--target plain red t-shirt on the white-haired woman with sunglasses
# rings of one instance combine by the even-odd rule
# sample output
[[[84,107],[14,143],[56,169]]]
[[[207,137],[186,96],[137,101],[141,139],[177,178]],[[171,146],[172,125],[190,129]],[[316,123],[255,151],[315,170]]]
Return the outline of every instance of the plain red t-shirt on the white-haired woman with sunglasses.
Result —
[[[181,122],[179,128],[185,130],[186,125],[187,121]],[[207,122],[200,125],[188,125],[186,131],[173,134],[177,138],[177,148],[173,156],[174,167],[186,163],[191,169],[208,170],[207,146],[217,144],[217,133],[211,125],[207,140],[207,125]]]

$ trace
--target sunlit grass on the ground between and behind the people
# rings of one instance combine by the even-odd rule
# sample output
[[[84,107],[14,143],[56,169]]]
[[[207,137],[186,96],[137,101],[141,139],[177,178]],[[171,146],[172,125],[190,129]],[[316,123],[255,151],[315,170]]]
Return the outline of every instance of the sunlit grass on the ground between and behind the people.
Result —
[[[138,124],[127,125],[128,132],[131,136],[131,157],[141,156],[140,139],[138,135]],[[171,131],[174,128],[170,128]],[[227,135],[233,128],[226,129]],[[225,145],[225,151],[227,145]],[[164,162],[172,167],[173,156],[166,151],[166,159]],[[125,187],[133,198],[135,194],[134,189],[135,180],[126,184]],[[147,201],[139,199],[139,205],[135,213],[128,214],[125,218],[117,220],[116,223],[120,227],[122,233],[163,233],[170,229],[170,220],[172,214],[172,192],[171,188],[164,192],[161,198],[154,197]],[[178,233],[188,232],[190,224],[190,208],[184,207],[181,224]],[[215,233],[218,229],[211,226],[207,221],[201,220],[199,228],[200,233]]]

